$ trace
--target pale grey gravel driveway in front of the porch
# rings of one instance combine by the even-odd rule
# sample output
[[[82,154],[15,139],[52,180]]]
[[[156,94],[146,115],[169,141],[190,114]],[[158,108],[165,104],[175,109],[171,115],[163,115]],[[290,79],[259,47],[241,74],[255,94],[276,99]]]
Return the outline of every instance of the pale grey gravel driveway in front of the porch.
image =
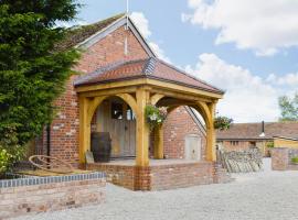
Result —
[[[106,204],[19,219],[298,219],[298,172],[265,170],[234,177],[231,184],[153,193],[108,185]]]

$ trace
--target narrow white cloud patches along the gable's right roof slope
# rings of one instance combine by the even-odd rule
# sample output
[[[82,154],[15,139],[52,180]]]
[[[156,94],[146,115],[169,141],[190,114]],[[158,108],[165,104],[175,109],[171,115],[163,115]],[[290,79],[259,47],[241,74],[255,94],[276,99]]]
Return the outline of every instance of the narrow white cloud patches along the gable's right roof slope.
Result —
[[[132,19],[134,23],[137,25],[141,34],[145,36],[145,38],[149,38],[151,35],[151,31],[149,29],[149,21],[147,20],[145,14],[142,12],[132,12],[130,18]],[[159,46],[159,44],[149,41],[149,45],[159,58],[163,59],[164,62],[171,63],[171,59],[166,55],[164,51]]]

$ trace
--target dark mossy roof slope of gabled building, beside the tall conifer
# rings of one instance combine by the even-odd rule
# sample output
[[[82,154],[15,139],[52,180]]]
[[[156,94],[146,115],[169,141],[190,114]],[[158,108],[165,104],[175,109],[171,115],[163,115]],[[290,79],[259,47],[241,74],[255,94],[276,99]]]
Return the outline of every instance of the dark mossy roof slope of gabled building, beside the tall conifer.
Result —
[[[72,48],[123,16],[125,16],[125,13],[117,14],[93,24],[70,28],[67,30],[65,40],[57,44],[55,47],[58,51]]]

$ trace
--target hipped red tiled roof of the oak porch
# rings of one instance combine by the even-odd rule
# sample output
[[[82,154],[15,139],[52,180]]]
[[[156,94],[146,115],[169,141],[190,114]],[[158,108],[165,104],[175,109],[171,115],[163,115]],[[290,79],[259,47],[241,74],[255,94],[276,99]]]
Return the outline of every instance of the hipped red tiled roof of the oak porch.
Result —
[[[123,62],[99,68],[75,81],[75,86],[95,85],[107,81],[128,80],[132,78],[151,78],[169,81],[187,87],[198,88],[211,92],[223,94],[222,90],[191,76],[184,72],[155,57]]]

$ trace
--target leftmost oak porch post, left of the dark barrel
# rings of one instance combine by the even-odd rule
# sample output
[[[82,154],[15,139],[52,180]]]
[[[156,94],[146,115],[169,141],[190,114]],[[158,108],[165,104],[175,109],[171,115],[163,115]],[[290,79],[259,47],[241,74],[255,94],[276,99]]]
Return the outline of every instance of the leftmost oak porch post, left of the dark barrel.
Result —
[[[85,163],[85,154],[91,148],[91,121],[88,121],[89,100],[78,98],[79,105],[79,163]]]

